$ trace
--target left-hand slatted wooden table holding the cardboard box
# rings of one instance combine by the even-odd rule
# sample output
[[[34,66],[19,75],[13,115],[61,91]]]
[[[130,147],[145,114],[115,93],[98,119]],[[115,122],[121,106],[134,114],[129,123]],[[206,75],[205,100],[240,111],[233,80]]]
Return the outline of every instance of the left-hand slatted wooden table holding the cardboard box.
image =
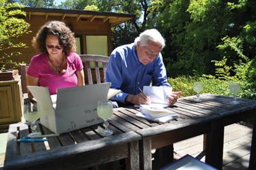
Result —
[[[139,169],[138,140],[141,136],[110,126],[114,135],[102,137],[102,127],[92,126],[47,137],[47,142],[19,143],[28,125],[10,125],[4,169],[84,169],[126,158],[126,169]],[[52,134],[40,125],[42,134]],[[103,166],[104,167],[104,166]]]

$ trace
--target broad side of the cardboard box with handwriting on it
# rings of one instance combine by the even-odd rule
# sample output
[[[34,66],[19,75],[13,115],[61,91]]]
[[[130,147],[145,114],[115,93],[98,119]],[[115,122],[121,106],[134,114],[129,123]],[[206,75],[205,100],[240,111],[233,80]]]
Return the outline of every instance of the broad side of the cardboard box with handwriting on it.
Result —
[[[57,91],[56,126],[58,133],[102,123],[97,102],[108,100],[110,83],[63,88]]]

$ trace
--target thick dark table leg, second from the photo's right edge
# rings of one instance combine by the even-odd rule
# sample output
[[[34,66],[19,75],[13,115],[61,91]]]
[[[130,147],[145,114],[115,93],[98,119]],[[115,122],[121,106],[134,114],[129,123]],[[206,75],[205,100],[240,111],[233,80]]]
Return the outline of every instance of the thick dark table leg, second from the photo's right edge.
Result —
[[[224,125],[219,120],[212,121],[209,134],[204,135],[205,163],[222,169],[223,164]]]

